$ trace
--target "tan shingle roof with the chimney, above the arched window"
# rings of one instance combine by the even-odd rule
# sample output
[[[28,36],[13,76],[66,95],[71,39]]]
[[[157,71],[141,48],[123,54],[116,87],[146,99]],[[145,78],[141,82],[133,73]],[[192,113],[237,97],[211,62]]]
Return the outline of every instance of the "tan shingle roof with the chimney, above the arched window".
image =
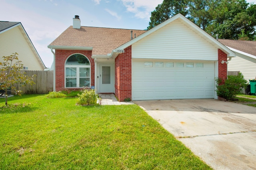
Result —
[[[140,36],[146,30],[132,30],[134,34]],[[131,30],[118,28],[100,28],[81,26],[80,29],[74,29],[70,26],[49,46],[56,49],[60,46],[68,47],[93,47],[92,55],[106,55],[113,49],[131,40]]]

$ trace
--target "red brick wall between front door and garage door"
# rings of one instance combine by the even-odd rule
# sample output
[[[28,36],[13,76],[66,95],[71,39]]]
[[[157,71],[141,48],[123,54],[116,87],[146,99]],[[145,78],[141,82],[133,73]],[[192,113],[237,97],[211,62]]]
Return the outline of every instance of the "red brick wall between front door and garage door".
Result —
[[[119,101],[132,99],[132,46],[115,59],[115,95]]]

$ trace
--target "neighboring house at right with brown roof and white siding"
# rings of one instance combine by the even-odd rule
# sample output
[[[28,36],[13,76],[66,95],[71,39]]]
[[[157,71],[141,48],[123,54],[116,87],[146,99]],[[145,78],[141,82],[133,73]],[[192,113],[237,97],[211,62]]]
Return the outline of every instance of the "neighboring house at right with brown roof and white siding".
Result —
[[[240,71],[247,81],[256,79],[256,41],[218,40],[236,57],[228,61],[228,71]]]

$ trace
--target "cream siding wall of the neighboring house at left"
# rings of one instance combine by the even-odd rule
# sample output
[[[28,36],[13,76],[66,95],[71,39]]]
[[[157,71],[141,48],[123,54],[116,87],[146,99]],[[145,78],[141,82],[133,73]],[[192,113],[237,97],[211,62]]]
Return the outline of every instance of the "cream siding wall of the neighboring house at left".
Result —
[[[2,56],[8,56],[12,53],[18,53],[18,59],[22,61],[24,67],[28,70],[44,70],[40,58],[34,54],[25,37],[22,34],[21,26],[16,26],[6,32],[0,34],[0,61],[3,61]]]

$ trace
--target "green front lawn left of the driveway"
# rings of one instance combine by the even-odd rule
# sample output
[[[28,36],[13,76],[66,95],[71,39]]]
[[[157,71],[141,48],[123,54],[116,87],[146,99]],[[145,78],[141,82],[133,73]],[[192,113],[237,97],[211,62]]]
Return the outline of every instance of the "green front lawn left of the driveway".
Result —
[[[83,107],[46,95],[8,104],[0,99],[1,170],[211,169],[137,105]]]

